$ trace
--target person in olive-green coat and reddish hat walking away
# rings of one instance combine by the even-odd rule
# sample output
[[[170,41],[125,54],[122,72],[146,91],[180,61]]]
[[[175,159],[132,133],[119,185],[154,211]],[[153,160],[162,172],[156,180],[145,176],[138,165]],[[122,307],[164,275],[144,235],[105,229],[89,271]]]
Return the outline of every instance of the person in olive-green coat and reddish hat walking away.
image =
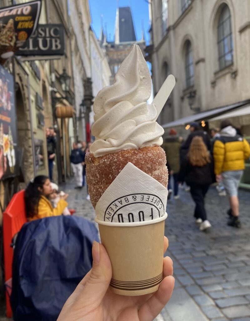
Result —
[[[180,169],[180,141],[179,136],[174,128],[171,128],[169,135],[165,139],[165,142],[162,144],[167,157],[167,167],[168,167],[168,199],[171,197],[171,193],[174,190],[174,199],[178,199],[178,173]],[[172,188],[172,180],[174,182],[174,187]]]

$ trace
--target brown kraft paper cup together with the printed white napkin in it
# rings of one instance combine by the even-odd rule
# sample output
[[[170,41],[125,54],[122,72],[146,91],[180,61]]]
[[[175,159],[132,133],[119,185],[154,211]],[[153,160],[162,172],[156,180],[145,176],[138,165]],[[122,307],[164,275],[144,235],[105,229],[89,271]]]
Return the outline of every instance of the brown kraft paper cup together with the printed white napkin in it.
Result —
[[[129,162],[97,202],[96,222],[112,264],[113,292],[135,296],[158,290],[167,196],[166,187]]]

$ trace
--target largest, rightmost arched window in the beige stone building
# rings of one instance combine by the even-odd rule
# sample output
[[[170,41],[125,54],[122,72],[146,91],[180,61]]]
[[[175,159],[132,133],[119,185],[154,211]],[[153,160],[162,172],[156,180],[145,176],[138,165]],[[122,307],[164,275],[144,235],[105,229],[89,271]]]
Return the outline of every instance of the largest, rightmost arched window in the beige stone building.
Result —
[[[233,63],[233,35],[231,14],[225,4],[218,22],[218,56],[219,68],[223,69]]]

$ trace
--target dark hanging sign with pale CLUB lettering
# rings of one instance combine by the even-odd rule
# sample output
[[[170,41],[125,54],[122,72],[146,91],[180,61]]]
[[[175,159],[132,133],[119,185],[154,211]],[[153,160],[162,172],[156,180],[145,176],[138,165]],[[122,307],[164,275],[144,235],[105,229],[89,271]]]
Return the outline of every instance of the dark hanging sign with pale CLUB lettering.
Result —
[[[37,30],[19,48],[16,55],[64,55],[64,26],[62,24],[39,24]]]

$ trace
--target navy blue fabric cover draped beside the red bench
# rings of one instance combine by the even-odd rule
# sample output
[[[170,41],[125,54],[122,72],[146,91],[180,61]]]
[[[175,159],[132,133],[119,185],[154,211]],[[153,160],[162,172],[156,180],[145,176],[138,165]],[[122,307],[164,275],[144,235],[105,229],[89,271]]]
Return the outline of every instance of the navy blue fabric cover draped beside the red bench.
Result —
[[[54,216],[24,224],[12,265],[15,321],[56,321],[92,267],[95,224],[77,216]]]

